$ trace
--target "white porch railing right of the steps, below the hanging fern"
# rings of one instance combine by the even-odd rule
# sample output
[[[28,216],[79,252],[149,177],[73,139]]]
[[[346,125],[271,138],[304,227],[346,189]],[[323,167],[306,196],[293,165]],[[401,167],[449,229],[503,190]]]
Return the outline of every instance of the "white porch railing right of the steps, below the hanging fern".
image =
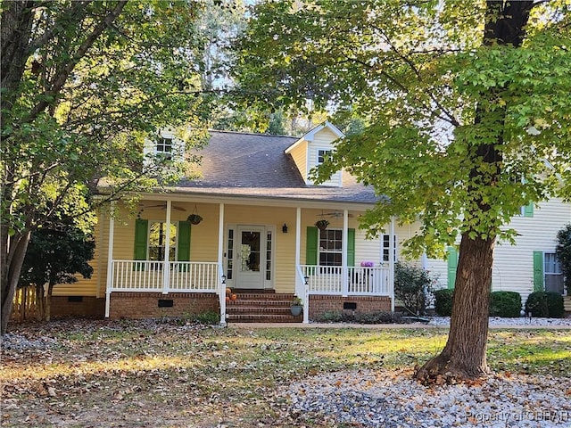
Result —
[[[343,295],[343,272],[347,272],[348,296],[391,296],[389,268],[301,265],[309,294]],[[345,270],[346,269],[346,270]]]

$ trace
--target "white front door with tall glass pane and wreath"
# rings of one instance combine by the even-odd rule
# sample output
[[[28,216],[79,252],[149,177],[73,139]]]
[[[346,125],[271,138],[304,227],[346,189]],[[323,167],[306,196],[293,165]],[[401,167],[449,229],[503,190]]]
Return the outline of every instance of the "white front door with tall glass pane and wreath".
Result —
[[[264,288],[266,266],[266,228],[238,226],[237,228],[236,288]]]

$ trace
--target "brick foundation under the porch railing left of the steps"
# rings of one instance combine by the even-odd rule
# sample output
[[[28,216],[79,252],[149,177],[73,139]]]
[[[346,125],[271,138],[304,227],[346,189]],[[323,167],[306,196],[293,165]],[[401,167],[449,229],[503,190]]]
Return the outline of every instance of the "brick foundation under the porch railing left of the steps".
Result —
[[[219,313],[218,294],[208,292],[170,292],[169,294],[162,294],[161,292],[112,292],[109,317],[112,319],[187,317],[209,311]]]

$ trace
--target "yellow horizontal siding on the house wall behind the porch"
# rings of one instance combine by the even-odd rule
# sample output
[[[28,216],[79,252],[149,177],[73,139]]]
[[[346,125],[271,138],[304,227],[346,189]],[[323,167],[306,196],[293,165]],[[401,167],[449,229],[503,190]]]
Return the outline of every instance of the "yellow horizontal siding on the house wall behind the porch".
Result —
[[[161,202],[143,203],[146,207],[161,205]],[[173,202],[172,205],[171,219],[173,222],[186,220],[186,217],[194,210],[203,217],[203,221],[199,225],[191,227],[190,259],[192,261],[218,261],[219,204]],[[324,211],[330,212],[331,210]],[[322,210],[302,209],[301,257],[299,260],[302,264],[305,263],[307,226],[314,226],[321,213]],[[352,217],[349,218],[349,227],[356,229],[355,262],[359,264],[363,260],[372,260],[377,264],[380,262],[379,240],[365,240],[364,232],[359,230],[359,214],[359,212],[352,211]],[[140,215],[141,218],[149,221],[164,221],[166,210],[161,207],[145,208]],[[327,217],[327,219],[330,221],[330,227],[343,227],[343,217]],[[226,204],[224,252],[226,253],[228,248],[226,233],[228,226],[234,228],[236,226],[266,226],[268,229],[274,230],[273,287],[277,292],[294,292],[295,265],[297,262],[295,260],[295,220],[295,208]],[[119,215],[114,220],[113,259],[133,259],[135,221],[136,217],[133,214],[129,216],[127,210],[120,207]],[[282,232],[284,224],[288,226],[288,233],[286,234]],[[95,269],[94,276],[90,280],[80,280],[78,284],[74,284],[75,289],[70,286],[59,286],[58,295],[104,296],[107,276],[109,218],[107,216],[100,218],[100,223],[95,230],[96,252],[95,260],[92,262]],[[226,264],[226,259],[224,262]]]

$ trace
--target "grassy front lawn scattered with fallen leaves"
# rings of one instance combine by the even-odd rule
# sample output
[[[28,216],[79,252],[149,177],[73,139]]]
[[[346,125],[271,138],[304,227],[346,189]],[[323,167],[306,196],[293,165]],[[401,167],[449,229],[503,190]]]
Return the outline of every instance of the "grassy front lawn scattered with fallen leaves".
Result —
[[[277,391],[356,368],[410,375],[443,329],[219,328],[164,320],[12,325],[0,372],[2,426],[302,426]],[[490,333],[503,373],[571,373],[568,330]],[[17,341],[15,341],[17,343]],[[353,372],[354,373],[354,372]],[[304,426],[339,426],[313,421]]]

